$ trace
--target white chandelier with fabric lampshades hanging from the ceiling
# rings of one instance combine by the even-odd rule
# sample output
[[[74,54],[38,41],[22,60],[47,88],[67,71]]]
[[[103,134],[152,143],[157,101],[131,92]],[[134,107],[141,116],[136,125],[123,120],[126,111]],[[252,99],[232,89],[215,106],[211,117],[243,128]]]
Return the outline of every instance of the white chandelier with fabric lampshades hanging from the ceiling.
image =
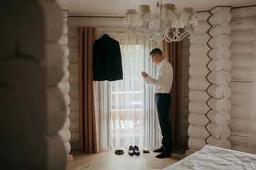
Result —
[[[193,34],[193,26],[197,26],[198,21],[193,8],[183,8],[181,16],[174,10],[174,4],[163,5],[162,1],[157,2],[156,15],[151,16],[150,6],[140,5],[139,13],[136,9],[127,9],[124,23],[127,24],[129,31],[136,33],[142,40],[180,41]]]

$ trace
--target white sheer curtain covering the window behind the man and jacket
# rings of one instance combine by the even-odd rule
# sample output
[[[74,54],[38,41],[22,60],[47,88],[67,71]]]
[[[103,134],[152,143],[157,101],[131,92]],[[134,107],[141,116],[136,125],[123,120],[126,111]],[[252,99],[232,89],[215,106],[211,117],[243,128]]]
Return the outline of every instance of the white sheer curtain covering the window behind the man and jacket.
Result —
[[[103,34],[98,34],[96,39]],[[162,43],[144,42],[136,35],[108,33],[122,52],[124,79],[96,81],[96,113],[99,147],[124,148],[129,145],[158,147],[161,131],[154,105],[154,87],[144,83],[141,72],[156,76],[149,52]]]

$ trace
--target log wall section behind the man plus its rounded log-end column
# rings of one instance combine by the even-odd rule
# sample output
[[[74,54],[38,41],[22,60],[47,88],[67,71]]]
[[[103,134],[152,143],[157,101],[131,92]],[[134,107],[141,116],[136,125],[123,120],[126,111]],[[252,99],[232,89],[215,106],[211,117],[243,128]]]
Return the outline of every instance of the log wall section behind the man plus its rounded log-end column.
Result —
[[[230,7],[196,13],[198,26],[191,35],[189,58],[188,147],[199,150],[206,144],[231,148]]]

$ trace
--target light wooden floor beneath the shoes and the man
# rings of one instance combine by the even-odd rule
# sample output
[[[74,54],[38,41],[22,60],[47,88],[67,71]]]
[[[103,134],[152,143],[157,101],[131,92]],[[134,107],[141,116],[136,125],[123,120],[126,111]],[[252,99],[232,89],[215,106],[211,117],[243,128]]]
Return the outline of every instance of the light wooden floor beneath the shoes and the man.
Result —
[[[114,150],[100,151],[97,154],[71,152],[74,159],[68,161],[67,170],[156,170],[164,169],[186,157],[182,151],[173,153],[171,157],[165,159],[156,158],[159,153],[154,153],[153,149],[149,149],[149,154],[144,154],[143,149],[140,149],[139,156],[130,156],[127,151],[128,149],[125,149],[122,155],[114,154]]]

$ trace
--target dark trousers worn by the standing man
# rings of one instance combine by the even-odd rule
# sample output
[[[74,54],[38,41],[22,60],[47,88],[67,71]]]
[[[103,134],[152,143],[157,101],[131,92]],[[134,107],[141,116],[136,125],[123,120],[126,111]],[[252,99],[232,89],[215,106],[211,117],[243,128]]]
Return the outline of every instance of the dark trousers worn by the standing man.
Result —
[[[159,124],[161,128],[161,134],[163,139],[161,140],[161,148],[167,152],[171,152],[172,147],[172,135],[171,135],[171,123],[169,121],[169,108],[171,106],[170,94],[155,94],[156,110],[159,116]]]

